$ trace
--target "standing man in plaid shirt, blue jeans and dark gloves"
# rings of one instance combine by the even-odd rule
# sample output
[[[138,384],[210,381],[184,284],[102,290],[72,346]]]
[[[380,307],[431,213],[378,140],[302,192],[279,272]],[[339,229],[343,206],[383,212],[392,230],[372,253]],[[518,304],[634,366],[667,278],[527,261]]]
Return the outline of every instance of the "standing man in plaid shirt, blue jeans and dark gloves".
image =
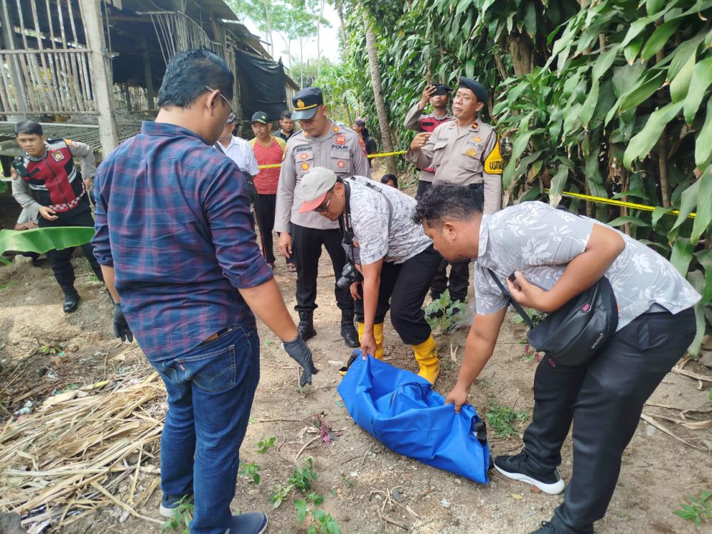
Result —
[[[160,513],[194,498],[193,534],[266,530],[265,514],[230,512],[259,380],[253,313],[302,365],[300,385],[316,372],[257,246],[245,177],[211,146],[234,117],[232,80],[210,51],[177,53],[156,121],[95,176],[93,244],[115,335],[136,335],[168,392]]]

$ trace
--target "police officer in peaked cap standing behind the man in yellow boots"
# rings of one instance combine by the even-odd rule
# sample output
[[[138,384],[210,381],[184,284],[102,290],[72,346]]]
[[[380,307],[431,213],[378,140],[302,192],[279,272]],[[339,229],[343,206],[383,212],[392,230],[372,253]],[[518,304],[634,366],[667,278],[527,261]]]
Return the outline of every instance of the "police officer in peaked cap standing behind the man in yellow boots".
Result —
[[[337,281],[346,263],[341,246],[341,232],[336,221],[324,219],[317,213],[299,213],[303,201],[301,180],[314,167],[326,167],[338,177],[355,174],[370,177],[368,161],[356,132],[327,116],[322,92],[308,87],[292,99],[292,118],[298,120],[302,132],[287,142],[287,153],[282,163],[277,187],[274,229],[280,232],[279,250],[297,260],[298,330],[304,340],[316,335],[313,323],[316,305],[316,281],[321,248],[325,246]],[[354,300],[347,289],[334,286],[337,305],[341,310],[341,336],[349,347],[358,347],[358,333],[354,328]]]

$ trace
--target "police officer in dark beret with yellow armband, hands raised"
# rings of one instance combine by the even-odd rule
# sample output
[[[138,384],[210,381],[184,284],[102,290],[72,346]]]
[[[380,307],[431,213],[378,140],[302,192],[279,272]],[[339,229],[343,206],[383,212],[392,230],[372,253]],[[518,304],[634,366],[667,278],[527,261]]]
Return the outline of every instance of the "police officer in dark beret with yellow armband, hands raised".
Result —
[[[452,182],[467,186],[483,213],[493,214],[502,203],[503,160],[497,132],[478,118],[487,101],[487,90],[476,80],[462,76],[452,104],[455,120],[441,124],[432,134],[415,136],[406,159],[419,169],[434,169],[433,184]],[[469,284],[469,261],[452,263],[450,297],[464,302]],[[446,289],[446,263],[433,280],[431,296]]]

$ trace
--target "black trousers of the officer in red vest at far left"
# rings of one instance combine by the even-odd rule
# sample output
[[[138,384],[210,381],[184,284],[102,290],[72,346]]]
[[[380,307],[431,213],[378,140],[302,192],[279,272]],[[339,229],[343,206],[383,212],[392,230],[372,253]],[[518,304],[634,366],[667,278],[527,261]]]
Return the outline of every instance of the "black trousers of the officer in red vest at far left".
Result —
[[[94,218],[91,215],[91,209],[89,207],[89,199],[84,196],[81,199],[79,205],[75,209],[70,211],[62,211],[57,214],[58,219],[54,221],[48,221],[43,216],[38,216],[37,226],[40,228],[53,228],[55,226],[89,226],[94,227]],[[70,246],[69,248],[64,248],[61,251],[48,251],[47,257],[49,258],[50,264],[52,266],[52,272],[54,273],[54,278],[56,278],[57,283],[62,288],[65,295],[76,295],[77,290],[74,288],[74,268],[72,266],[72,254],[74,253],[75,247]],[[94,257],[94,247],[91,243],[85,243],[82,245],[82,250],[84,251],[84,256],[86,256],[89,261],[89,265],[94,271],[94,274],[99,278],[100,281],[104,281],[104,276],[101,273],[101,267]]]

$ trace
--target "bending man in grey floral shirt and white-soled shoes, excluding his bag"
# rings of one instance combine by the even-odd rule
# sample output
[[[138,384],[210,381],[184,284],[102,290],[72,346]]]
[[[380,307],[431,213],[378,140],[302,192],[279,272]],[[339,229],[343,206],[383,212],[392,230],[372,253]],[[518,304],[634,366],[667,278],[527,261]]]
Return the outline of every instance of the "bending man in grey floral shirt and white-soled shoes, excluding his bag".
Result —
[[[494,461],[508,478],[560,493],[560,450],[573,422],[574,461],[564,501],[535,533],[592,533],[606,513],[643,404],[693,340],[700,295],[651,248],[541,202],[483,215],[464,187],[441,184],[420,199],[414,218],[446,260],[476,259],[477,314],[457,383],[446,397],[456,411],[491,357],[507,309],[488,269],[507,281],[520,305],[545,313],[601,276],[610,281],[619,307],[615,335],[584,365],[540,362],[524,450]],[[514,282],[508,280],[512,273]]]

